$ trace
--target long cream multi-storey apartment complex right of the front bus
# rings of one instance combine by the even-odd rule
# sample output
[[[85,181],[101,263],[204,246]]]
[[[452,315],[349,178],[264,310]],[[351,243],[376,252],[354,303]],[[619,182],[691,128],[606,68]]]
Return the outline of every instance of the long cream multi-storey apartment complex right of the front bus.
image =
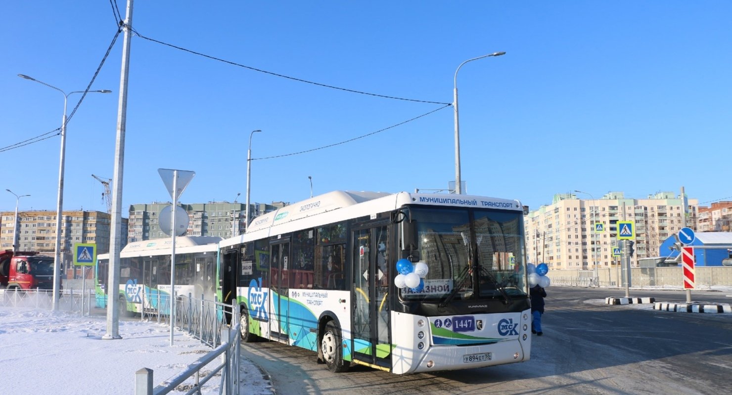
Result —
[[[526,253],[531,262],[544,262],[553,269],[594,269],[619,262],[613,257],[618,221],[635,223],[635,254],[638,258],[659,256],[660,246],[684,226],[697,228],[698,200],[684,201],[673,192],[659,192],[646,199],[627,199],[623,192],[609,192],[600,199],[578,199],[575,193],[554,195],[551,204],[524,217]],[[596,231],[597,225],[601,231]]]

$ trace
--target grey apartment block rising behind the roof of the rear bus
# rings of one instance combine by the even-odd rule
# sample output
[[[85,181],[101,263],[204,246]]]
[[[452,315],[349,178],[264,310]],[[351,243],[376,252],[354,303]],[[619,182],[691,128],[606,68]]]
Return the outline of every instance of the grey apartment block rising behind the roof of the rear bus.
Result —
[[[171,202],[153,202],[149,204],[130,205],[130,226],[127,233],[128,242],[138,242],[148,239],[168,237],[160,229],[158,216],[160,211],[170,206]],[[250,204],[251,217],[255,218],[266,212],[285,207],[289,203],[272,202],[271,204]],[[216,236],[228,237],[242,234],[246,231],[244,217],[245,204],[229,202],[208,202],[181,204],[188,213],[187,236]]]

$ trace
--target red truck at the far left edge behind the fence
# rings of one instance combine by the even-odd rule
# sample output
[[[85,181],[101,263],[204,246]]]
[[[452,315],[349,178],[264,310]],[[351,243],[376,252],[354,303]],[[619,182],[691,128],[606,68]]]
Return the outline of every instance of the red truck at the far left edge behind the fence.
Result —
[[[53,289],[53,257],[0,250],[0,288]]]

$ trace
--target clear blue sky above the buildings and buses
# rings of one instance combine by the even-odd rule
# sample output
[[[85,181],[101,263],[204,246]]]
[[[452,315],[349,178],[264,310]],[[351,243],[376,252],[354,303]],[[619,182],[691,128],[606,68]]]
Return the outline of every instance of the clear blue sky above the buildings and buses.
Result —
[[[107,0],[4,1],[0,12],[9,147],[58,128],[63,112],[61,93],[17,74],[83,91],[116,23]],[[196,172],[184,203],[244,202],[255,129],[252,202],[307,199],[308,176],[315,194],[447,188],[453,110],[420,101],[451,103],[458,65],[495,51],[507,54],[458,74],[468,193],[532,209],[575,189],[730,199],[730,15],[728,1],[138,0],[143,37],[246,67],[132,37],[123,212],[170,200],[159,168]],[[122,35],[91,87],[113,93],[89,93],[68,123],[65,210],[105,210],[91,174],[113,176],[121,56]],[[31,194],[20,210],[56,210],[59,147],[56,136],[0,150],[2,189]],[[0,210],[14,208],[2,191]]]

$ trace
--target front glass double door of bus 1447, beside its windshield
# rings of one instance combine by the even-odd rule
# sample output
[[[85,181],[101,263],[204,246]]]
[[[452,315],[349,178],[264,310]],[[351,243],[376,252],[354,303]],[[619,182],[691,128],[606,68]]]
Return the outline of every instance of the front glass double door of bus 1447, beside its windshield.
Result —
[[[353,231],[353,334],[354,359],[390,369],[389,268],[386,225]]]

